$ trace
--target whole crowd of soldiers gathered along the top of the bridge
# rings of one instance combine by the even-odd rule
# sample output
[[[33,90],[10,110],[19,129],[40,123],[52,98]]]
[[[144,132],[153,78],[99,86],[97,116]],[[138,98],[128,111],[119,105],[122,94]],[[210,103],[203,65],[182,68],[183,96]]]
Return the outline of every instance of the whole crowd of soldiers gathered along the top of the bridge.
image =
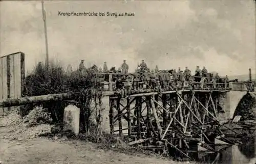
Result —
[[[84,69],[83,60],[79,65],[79,70]],[[99,68],[100,73],[111,73],[112,70],[108,70],[106,62],[103,64],[103,70]],[[113,72],[112,72],[113,73]],[[219,83],[220,77],[218,73],[213,76],[213,74],[208,73],[207,69],[203,67],[201,70],[199,66],[196,67],[194,76],[191,75],[191,71],[188,67],[185,67],[184,71],[179,67],[178,70],[159,70],[156,66],[155,70],[150,70],[147,64],[142,60],[141,64],[138,64],[135,73],[129,73],[129,65],[127,65],[126,60],[123,61],[121,66],[115,73],[120,73],[122,75],[116,75],[113,80],[115,81],[115,88],[121,90],[125,88],[125,83],[132,83],[131,87],[133,90],[139,90],[141,88],[146,89],[174,89],[188,87],[191,85],[191,81],[200,83],[202,78],[206,78],[208,83]],[[126,74],[126,75],[123,75]],[[131,78],[131,76],[133,78]],[[226,76],[225,83],[228,83],[228,78]]]

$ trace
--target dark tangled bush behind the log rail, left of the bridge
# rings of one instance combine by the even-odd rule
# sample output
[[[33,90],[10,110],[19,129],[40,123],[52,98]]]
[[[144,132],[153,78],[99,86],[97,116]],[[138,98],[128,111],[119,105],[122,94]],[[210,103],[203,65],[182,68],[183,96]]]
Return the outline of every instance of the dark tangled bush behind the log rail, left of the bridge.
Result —
[[[96,120],[100,123],[100,110],[99,103],[96,108],[91,108],[92,101],[101,102],[101,94],[97,91],[97,73],[98,69],[93,66],[83,71],[72,71],[67,73],[63,68],[51,62],[47,68],[41,62],[34,67],[25,79],[25,96],[38,96],[47,94],[58,93],[71,93],[74,95],[74,101],[77,102],[77,107],[80,108],[80,124],[82,131],[88,131],[90,128],[89,118],[92,113],[97,110]],[[96,94],[95,94],[96,93]],[[54,101],[42,104],[43,108],[47,108],[51,113],[53,121],[62,123],[64,108],[70,102],[67,101]],[[28,114],[35,105],[27,105],[25,107],[25,114]]]

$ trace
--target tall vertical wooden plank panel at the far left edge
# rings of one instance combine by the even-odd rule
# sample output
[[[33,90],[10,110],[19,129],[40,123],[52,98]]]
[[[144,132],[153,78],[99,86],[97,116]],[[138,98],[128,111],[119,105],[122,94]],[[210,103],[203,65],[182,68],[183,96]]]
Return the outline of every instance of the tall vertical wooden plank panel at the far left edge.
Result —
[[[16,52],[0,57],[0,101],[22,97],[24,82],[25,54]],[[14,107],[0,108],[0,113],[12,108]]]

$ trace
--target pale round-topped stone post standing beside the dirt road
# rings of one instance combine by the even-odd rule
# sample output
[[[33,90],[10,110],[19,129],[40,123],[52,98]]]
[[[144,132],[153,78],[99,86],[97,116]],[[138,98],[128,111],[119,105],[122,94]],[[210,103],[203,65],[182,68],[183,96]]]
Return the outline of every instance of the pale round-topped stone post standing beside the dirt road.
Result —
[[[72,130],[74,134],[79,133],[80,108],[68,105],[64,110],[64,130]]]

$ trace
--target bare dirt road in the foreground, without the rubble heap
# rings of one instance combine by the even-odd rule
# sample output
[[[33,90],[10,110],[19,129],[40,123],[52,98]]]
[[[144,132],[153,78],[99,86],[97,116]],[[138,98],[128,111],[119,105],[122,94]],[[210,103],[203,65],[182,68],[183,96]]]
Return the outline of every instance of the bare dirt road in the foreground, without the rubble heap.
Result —
[[[1,120],[1,118],[0,118]],[[144,154],[98,149],[94,143],[23,138],[0,121],[0,163],[182,163]],[[187,162],[188,163],[188,162]]]

